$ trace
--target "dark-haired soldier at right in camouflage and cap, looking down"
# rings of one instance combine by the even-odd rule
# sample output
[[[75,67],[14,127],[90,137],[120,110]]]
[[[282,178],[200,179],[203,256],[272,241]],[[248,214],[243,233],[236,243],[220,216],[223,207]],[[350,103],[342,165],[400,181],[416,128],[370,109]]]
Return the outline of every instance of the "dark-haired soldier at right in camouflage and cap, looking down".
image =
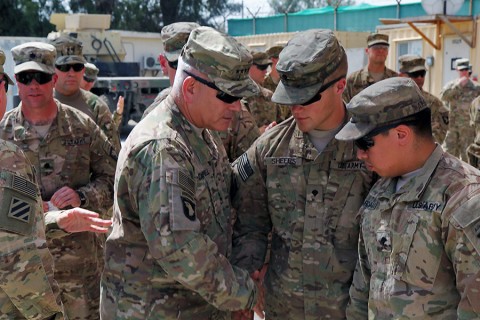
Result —
[[[348,104],[336,135],[381,176],[365,199],[348,319],[479,319],[480,171],[435,143],[412,79]]]

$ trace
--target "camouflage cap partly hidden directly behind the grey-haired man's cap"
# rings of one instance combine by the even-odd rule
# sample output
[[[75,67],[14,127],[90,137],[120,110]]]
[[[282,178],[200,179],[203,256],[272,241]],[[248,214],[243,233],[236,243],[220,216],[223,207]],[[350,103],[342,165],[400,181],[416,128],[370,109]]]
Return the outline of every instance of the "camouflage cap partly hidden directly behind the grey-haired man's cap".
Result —
[[[190,32],[198,27],[200,25],[195,22],[175,22],[162,28],[163,50],[165,50],[165,58],[168,61],[178,60]]]

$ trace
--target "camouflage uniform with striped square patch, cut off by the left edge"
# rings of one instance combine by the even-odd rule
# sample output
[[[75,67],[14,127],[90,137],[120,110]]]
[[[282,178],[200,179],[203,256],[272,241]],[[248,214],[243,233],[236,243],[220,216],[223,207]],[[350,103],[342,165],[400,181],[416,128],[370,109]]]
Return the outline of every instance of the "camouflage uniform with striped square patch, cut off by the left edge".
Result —
[[[0,140],[0,319],[64,319],[34,170]]]

